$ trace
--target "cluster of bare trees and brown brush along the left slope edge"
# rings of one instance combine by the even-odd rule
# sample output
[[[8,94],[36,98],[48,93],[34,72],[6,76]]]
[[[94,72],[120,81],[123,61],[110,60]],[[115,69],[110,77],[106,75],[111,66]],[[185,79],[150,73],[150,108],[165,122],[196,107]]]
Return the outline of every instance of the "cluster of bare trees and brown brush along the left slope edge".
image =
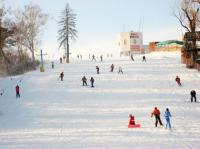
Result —
[[[48,15],[38,5],[6,10],[0,5],[0,76],[18,75],[39,65],[35,51]]]

